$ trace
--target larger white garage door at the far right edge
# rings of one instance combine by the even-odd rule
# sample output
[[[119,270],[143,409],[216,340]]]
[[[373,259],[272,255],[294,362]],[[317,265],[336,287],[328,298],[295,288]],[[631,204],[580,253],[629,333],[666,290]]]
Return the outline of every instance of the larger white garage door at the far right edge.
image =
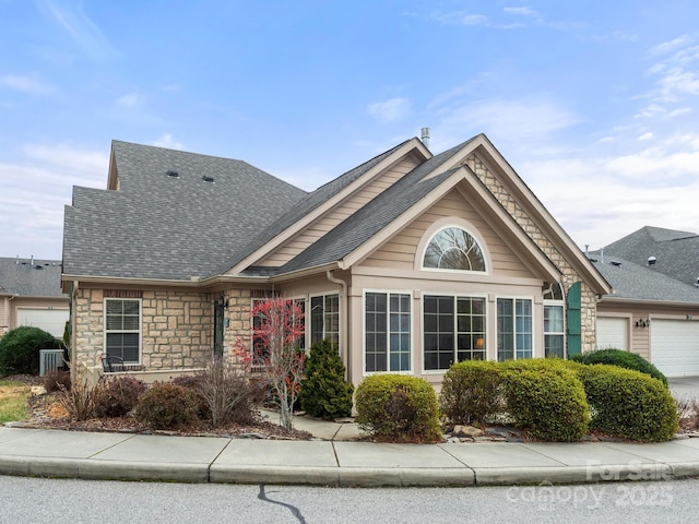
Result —
[[[651,322],[651,362],[666,377],[699,376],[699,321]]]

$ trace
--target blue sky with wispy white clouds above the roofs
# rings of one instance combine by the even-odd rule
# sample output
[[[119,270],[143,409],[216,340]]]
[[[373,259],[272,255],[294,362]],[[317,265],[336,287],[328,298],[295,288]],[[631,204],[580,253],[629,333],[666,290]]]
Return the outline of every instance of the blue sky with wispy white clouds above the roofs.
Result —
[[[60,259],[110,141],[306,190],[484,132],[573,241],[699,233],[699,2],[0,0],[0,257]]]

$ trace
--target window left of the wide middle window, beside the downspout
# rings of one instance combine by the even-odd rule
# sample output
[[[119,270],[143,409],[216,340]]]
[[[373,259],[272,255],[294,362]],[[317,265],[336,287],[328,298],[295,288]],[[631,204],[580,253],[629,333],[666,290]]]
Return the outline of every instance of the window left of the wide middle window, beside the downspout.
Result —
[[[410,371],[411,296],[367,293],[365,315],[365,370]]]

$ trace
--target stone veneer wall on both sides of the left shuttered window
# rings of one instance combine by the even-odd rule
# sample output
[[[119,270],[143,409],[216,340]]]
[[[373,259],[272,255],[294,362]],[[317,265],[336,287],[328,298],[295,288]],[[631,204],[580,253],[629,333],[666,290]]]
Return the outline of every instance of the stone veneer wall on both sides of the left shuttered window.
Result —
[[[141,364],[147,369],[192,368],[213,353],[213,306],[208,293],[142,291]],[[84,289],[75,298],[75,356],[100,366],[104,352],[104,291]]]

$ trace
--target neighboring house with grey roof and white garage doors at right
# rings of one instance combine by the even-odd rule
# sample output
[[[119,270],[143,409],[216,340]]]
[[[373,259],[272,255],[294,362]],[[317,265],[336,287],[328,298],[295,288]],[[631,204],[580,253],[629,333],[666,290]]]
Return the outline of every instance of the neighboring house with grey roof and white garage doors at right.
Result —
[[[647,226],[589,255],[614,288],[597,305],[597,347],[699,376],[699,236]]]

